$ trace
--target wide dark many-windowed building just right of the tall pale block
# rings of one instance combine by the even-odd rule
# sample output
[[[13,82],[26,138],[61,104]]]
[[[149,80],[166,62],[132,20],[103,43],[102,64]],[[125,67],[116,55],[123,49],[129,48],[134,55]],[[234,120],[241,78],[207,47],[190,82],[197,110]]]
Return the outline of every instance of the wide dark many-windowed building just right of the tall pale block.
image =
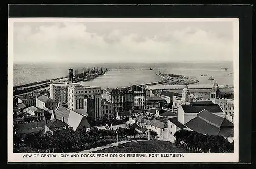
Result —
[[[104,89],[103,97],[113,103],[114,110],[125,111],[134,107],[134,95],[127,88]]]

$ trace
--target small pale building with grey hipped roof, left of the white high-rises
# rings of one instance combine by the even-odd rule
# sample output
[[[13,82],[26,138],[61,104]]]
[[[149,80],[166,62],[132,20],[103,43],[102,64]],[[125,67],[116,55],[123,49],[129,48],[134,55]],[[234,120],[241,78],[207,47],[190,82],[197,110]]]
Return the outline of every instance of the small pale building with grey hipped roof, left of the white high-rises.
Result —
[[[50,110],[55,110],[57,107],[57,102],[51,98],[48,98],[45,95],[41,95],[39,98],[36,98],[36,107],[44,109],[45,107]]]

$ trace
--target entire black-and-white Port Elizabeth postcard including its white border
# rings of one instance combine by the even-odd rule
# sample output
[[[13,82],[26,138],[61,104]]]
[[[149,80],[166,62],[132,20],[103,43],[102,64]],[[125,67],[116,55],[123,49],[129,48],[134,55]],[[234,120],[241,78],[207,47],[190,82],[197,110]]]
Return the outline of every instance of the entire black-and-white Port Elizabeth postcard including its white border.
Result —
[[[237,18],[9,18],[9,162],[238,162]]]

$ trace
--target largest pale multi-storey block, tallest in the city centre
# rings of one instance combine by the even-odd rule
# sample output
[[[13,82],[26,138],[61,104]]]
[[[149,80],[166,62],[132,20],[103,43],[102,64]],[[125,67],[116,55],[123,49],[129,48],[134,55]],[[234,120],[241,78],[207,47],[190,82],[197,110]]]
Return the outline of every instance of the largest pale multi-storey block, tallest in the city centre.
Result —
[[[100,94],[99,86],[72,84],[68,87],[68,108],[85,109],[88,116],[96,119],[101,114]]]

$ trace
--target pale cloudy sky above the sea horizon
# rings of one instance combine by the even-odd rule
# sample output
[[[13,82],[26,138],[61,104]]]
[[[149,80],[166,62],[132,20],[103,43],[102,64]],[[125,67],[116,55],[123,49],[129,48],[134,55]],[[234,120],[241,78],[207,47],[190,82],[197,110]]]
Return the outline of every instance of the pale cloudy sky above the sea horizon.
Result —
[[[232,61],[232,22],[15,22],[14,62]]]

